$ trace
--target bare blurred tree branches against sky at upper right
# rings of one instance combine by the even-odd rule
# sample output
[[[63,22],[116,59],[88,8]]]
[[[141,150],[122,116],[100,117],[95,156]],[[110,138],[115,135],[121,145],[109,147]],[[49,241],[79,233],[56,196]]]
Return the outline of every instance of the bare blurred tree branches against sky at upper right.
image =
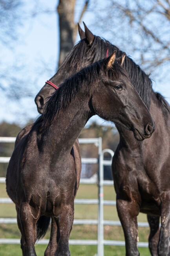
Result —
[[[146,73],[160,75],[160,66],[170,63],[170,1],[109,0],[98,8],[95,24],[104,24],[107,39],[135,57]]]

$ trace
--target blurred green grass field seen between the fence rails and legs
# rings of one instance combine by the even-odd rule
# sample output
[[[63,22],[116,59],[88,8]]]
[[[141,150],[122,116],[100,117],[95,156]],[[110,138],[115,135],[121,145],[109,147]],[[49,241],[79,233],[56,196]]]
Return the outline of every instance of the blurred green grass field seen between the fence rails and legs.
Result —
[[[96,185],[80,185],[77,198],[97,198],[98,190]],[[7,197],[5,184],[0,184],[0,197]],[[113,187],[104,187],[104,199],[115,200]],[[0,205],[0,217],[16,217],[15,206],[13,204]],[[97,206],[95,205],[75,205],[75,219],[97,219]],[[105,220],[119,220],[115,206],[104,206]],[[146,221],[146,215],[139,214],[138,221]],[[139,228],[139,241],[148,241],[149,229]],[[20,232],[16,224],[0,224],[0,238],[20,238]],[[49,230],[45,236],[49,238]],[[74,225],[70,239],[97,239],[97,226]],[[121,227],[104,226],[104,239],[124,240]],[[97,246],[70,245],[71,256],[94,256],[97,253]],[[36,245],[37,256],[43,256],[46,245]],[[139,248],[141,256],[149,256],[147,248]],[[1,245],[0,256],[22,256],[20,245]],[[124,256],[124,247],[104,247],[105,256]]]

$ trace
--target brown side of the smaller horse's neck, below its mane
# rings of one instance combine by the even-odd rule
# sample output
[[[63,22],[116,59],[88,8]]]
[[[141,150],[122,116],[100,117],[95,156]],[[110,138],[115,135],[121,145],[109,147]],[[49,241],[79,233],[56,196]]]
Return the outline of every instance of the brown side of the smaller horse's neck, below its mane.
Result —
[[[70,153],[75,140],[91,117],[88,101],[89,99],[80,101],[79,97],[75,97],[68,107],[60,110],[57,120],[48,128],[46,148],[48,152],[51,151],[49,154],[53,161],[58,157],[65,158]]]

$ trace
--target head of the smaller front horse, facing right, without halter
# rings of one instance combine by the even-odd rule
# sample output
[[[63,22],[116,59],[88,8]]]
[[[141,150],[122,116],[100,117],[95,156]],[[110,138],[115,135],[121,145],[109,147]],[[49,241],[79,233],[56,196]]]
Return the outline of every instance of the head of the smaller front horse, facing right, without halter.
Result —
[[[150,138],[155,130],[154,120],[122,68],[125,54],[115,57],[114,52],[101,61],[100,86],[96,87],[91,98],[94,112],[105,120],[113,121],[117,127],[133,131],[139,141]]]

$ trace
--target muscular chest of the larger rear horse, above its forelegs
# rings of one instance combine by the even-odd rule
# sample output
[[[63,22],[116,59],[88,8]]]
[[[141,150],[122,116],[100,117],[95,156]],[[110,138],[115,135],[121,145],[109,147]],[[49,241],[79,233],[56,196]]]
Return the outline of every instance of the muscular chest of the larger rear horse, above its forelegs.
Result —
[[[160,214],[161,198],[157,183],[145,172],[139,157],[124,158],[119,152],[113,159],[112,170],[119,198],[135,202],[143,213]]]

